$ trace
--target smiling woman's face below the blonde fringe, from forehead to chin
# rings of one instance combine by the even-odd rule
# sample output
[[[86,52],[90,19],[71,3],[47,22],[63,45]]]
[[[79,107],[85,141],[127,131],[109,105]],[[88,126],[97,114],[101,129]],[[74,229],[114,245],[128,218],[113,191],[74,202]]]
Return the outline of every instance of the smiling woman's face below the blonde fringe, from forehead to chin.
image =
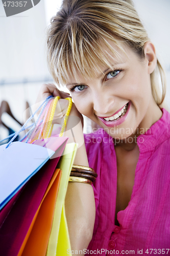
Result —
[[[119,57],[103,47],[112,69],[103,67],[104,74],[99,72],[89,79],[78,74],[81,82],[72,79],[67,84],[78,111],[119,139],[135,133],[138,126],[149,128],[157,111],[151,92],[149,54],[140,59],[125,44],[123,47],[126,54],[116,49]]]

